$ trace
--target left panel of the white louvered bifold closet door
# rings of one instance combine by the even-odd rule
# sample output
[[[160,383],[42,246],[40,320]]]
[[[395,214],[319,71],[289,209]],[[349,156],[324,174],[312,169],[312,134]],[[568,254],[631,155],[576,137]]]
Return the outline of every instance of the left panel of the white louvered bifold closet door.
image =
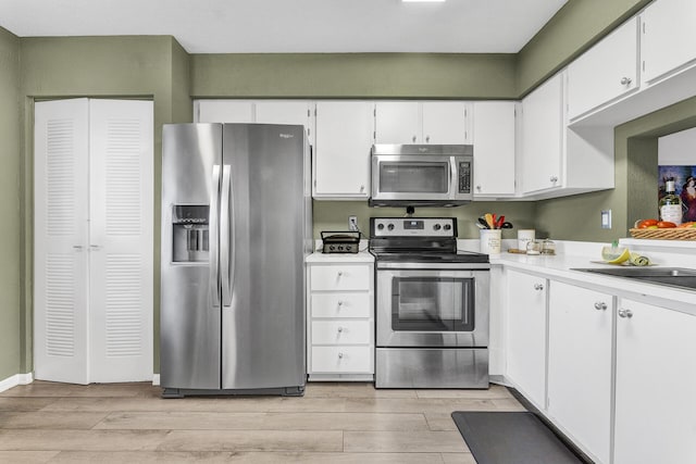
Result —
[[[34,117],[34,375],[88,384],[88,100]]]

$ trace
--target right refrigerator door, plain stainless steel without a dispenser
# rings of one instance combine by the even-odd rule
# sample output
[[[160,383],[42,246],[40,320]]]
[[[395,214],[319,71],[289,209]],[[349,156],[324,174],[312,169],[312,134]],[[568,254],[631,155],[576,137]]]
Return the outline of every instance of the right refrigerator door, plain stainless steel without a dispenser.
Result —
[[[304,130],[223,130],[223,389],[303,387]]]

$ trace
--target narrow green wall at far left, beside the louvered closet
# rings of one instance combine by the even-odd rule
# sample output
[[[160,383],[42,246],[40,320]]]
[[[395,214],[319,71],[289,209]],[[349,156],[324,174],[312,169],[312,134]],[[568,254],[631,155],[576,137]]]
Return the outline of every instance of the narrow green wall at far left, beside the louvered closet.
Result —
[[[20,40],[0,28],[0,380],[21,371]]]

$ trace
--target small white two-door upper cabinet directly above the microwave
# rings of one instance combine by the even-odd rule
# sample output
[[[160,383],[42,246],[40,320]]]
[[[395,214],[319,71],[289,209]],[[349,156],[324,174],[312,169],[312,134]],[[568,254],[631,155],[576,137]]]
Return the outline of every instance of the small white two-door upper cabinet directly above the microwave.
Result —
[[[468,112],[461,101],[378,101],[376,143],[470,143]]]

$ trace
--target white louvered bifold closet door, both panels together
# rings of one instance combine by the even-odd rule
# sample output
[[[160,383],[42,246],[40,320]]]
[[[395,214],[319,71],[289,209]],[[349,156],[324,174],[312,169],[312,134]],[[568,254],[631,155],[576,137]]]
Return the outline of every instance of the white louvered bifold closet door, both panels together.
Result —
[[[152,103],[78,99],[35,108],[35,377],[149,380]],[[73,118],[82,123],[79,134],[51,136],[58,122]],[[53,154],[59,145],[51,137],[80,149]],[[64,237],[63,228],[75,233]],[[51,253],[57,247],[62,251]],[[63,264],[71,256],[72,267]]]

